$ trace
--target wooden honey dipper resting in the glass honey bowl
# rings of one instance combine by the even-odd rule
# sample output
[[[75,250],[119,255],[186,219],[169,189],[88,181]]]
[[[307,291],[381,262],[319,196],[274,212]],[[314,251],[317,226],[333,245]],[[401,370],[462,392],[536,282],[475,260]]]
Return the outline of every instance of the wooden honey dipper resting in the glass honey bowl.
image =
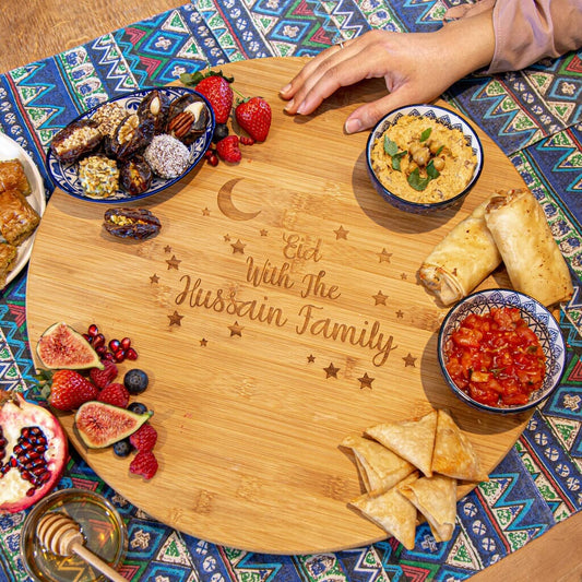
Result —
[[[79,524],[69,515],[50,512],[40,519],[36,530],[40,544],[58,556],[76,554],[114,582],[128,582],[117,570],[85,547],[85,539]]]

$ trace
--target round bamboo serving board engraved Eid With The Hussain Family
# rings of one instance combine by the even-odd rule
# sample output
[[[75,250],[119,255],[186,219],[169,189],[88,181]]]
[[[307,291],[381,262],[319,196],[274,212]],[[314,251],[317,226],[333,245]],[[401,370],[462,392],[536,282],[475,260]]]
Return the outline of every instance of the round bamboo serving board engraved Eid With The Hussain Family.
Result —
[[[273,554],[331,551],[385,538],[347,507],[361,492],[338,443],[367,427],[448,407],[491,471],[528,414],[492,416],[450,392],[437,358],[447,309],[418,283],[432,247],[489,193],[523,186],[483,132],[485,165],[463,206],[417,216],[388,205],[366,174],[367,134],[346,135],[380,81],[342,90],[316,115],[290,117],[278,97],[305,60],[223,66],[244,95],[273,109],[266,142],[237,165],[200,164],[136,201],[162,222],[150,240],[111,237],[107,205],[50,199],[28,271],[34,349],[66,321],[131,337],[151,378],[144,402],[159,433],[159,471],[130,459],[83,459],[153,518],[221,545]],[[482,286],[508,285],[503,271]],[[349,330],[347,335],[342,330]],[[466,494],[471,485],[460,488]]]

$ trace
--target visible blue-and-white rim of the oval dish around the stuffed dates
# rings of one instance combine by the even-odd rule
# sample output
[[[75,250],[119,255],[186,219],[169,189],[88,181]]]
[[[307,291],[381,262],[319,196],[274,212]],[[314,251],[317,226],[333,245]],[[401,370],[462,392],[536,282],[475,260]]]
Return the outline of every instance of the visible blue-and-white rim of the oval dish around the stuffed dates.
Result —
[[[124,192],[123,190],[118,190],[114,193],[114,195],[108,198],[92,198],[85,195],[83,192],[83,188],[81,187],[81,182],[79,180],[79,174],[78,174],[78,166],[76,164],[67,164],[59,162],[55,154],[52,153],[52,149],[49,149],[47,154],[47,168],[48,173],[50,175],[50,178],[52,181],[64,192],[71,194],[72,197],[79,198],[81,200],[86,200],[90,202],[102,202],[106,204],[116,203],[119,202],[129,202],[132,200],[140,200],[142,198],[151,197],[157,192],[161,192],[162,190],[168,188],[173,183],[177,182],[181,178],[183,178],[189,171],[192,170],[192,168],[204,157],[204,153],[210,147],[210,144],[212,142],[212,134],[214,133],[214,114],[212,111],[212,107],[210,106],[209,102],[205,99],[203,95],[200,93],[197,93],[195,91],[188,88],[188,87],[180,87],[180,86],[166,86],[166,87],[156,87],[157,91],[165,93],[170,100],[174,100],[176,97],[180,97],[181,95],[185,95],[187,93],[192,93],[198,96],[200,96],[202,99],[206,102],[206,105],[209,107],[209,122],[206,123],[206,130],[205,132],[194,142],[192,145],[189,146],[190,149],[190,165],[186,168],[186,170],[180,174],[180,176],[177,176],[176,178],[165,180],[164,178],[159,178],[157,176],[154,176],[152,183],[145,192],[142,192],[138,195],[130,195],[128,192]],[[110,99],[109,102],[105,103],[112,103],[116,102],[119,105],[123,106],[129,112],[136,111],[142,99],[151,93],[153,90],[142,90],[142,91],[135,91],[133,93],[129,93],[127,95],[123,95],[122,97],[116,97],[114,99]],[[96,107],[93,107],[88,111],[85,111],[83,115],[79,116],[76,119],[73,119],[72,121],[76,121],[79,119],[86,119],[93,117],[95,111],[105,105],[105,103],[102,103],[97,105]],[[72,122],[71,121],[71,122]]]

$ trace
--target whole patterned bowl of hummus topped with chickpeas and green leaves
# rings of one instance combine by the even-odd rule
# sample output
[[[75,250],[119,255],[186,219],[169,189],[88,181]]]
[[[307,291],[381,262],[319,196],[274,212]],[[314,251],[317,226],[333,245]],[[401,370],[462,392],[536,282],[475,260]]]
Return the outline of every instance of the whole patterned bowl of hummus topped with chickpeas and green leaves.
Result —
[[[370,180],[395,207],[416,214],[460,204],[483,168],[483,146],[460,116],[436,105],[401,107],[382,118],[366,147]]]

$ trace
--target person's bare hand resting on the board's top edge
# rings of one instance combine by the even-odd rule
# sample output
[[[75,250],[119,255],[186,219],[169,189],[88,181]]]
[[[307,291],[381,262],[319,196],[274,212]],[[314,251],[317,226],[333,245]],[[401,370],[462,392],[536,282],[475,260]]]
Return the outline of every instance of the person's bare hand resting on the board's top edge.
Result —
[[[281,96],[288,99],[286,112],[309,115],[337,88],[383,78],[388,94],[346,119],[345,131],[354,133],[373,127],[397,107],[437,98],[455,81],[486,66],[494,48],[490,12],[433,33],[370,31],[311,59],[281,90]]]

